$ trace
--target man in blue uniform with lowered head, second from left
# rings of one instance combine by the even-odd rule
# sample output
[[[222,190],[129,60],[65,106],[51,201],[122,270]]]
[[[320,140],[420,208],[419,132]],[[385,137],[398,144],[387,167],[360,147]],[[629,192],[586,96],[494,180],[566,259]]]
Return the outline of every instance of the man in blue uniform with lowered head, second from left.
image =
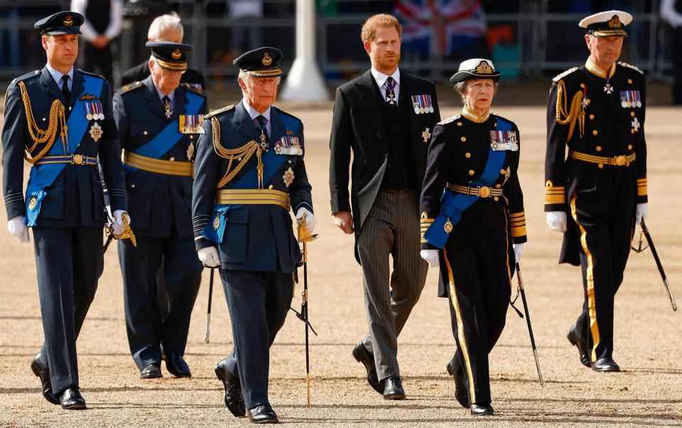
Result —
[[[114,96],[137,237],[137,246],[119,242],[126,331],[141,378],[160,378],[162,357],[168,371],[183,378],[191,376],[183,355],[202,270],[190,220],[192,167],[207,107],[197,90],[180,85],[192,47],[146,46],[151,75]],[[167,312],[158,293],[165,294]]]

